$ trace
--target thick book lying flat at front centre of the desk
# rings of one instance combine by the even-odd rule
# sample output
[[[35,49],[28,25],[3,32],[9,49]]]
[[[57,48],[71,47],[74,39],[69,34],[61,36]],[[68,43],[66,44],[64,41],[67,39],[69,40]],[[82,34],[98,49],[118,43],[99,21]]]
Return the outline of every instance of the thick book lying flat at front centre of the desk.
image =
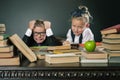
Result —
[[[59,63],[77,63],[80,61],[79,56],[74,53],[68,54],[47,54],[45,55],[45,61],[49,64],[59,64]]]

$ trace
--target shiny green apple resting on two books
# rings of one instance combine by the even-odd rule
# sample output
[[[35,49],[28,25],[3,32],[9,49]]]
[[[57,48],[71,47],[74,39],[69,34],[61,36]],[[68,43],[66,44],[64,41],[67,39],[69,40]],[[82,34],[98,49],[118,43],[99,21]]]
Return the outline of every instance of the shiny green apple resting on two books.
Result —
[[[96,43],[93,40],[86,41],[84,44],[84,47],[85,47],[86,51],[93,52],[96,48]]]

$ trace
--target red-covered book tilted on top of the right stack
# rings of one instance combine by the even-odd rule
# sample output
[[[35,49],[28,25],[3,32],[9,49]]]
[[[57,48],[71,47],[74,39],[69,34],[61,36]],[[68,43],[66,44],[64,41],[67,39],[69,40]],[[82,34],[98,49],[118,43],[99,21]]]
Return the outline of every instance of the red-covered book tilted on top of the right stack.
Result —
[[[119,32],[120,32],[120,24],[101,30],[101,34],[111,34],[111,33],[119,33]]]

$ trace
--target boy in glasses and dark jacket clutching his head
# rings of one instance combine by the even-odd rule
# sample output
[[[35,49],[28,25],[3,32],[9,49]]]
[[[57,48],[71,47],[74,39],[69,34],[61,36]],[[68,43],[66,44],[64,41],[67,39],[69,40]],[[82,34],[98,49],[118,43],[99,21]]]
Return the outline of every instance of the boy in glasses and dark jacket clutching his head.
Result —
[[[29,22],[23,41],[29,46],[57,46],[62,43],[57,40],[51,30],[49,21],[32,20]]]

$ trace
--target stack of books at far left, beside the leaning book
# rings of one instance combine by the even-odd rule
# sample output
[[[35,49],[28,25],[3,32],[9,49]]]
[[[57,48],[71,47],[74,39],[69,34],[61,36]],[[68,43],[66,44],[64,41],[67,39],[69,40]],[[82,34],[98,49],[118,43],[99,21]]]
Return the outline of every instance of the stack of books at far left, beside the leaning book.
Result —
[[[14,46],[8,44],[5,24],[0,24],[0,66],[20,65],[18,56],[14,55]]]

